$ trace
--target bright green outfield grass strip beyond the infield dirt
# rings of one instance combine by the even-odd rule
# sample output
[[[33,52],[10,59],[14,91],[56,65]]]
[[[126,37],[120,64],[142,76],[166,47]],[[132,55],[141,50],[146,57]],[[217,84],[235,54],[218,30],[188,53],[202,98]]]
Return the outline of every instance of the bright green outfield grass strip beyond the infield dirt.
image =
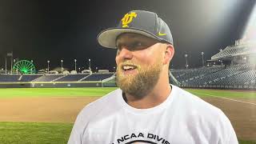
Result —
[[[0,89],[0,98],[102,96],[116,87]],[[186,89],[199,97],[256,98],[256,91]]]

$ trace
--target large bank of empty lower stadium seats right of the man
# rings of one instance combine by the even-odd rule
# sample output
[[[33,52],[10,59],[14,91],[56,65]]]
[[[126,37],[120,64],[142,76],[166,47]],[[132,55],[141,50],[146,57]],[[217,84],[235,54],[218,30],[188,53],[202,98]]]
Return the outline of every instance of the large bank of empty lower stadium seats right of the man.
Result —
[[[204,67],[198,70],[173,70],[172,74],[189,87],[255,87],[256,68],[253,65],[236,65],[228,67]]]

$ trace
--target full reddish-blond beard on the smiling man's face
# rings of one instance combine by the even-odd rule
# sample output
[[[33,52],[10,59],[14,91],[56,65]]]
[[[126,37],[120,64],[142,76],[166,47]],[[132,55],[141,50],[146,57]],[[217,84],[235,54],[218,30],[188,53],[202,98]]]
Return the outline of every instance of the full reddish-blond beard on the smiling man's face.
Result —
[[[142,70],[140,66],[136,70],[136,74],[124,75],[122,66],[119,65],[117,84],[123,92],[141,99],[154,89],[160,77],[162,65],[161,62],[155,62],[153,66],[148,66],[145,70]]]

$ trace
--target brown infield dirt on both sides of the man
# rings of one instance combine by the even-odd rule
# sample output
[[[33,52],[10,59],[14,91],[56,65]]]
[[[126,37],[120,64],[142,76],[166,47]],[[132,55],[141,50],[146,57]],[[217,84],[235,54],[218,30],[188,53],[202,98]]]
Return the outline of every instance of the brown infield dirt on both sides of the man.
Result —
[[[70,122],[88,103],[100,97],[1,98],[0,122]],[[202,98],[220,108],[234,126],[238,138],[256,140],[256,99]]]

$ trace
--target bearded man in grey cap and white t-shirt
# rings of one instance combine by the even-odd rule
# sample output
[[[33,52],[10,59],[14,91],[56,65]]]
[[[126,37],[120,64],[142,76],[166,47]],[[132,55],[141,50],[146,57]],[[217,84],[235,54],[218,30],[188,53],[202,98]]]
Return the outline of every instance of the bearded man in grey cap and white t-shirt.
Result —
[[[157,14],[132,10],[98,42],[117,49],[119,89],[87,105],[69,144],[162,143],[237,144],[222,110],[170,85],[174,42]]]

